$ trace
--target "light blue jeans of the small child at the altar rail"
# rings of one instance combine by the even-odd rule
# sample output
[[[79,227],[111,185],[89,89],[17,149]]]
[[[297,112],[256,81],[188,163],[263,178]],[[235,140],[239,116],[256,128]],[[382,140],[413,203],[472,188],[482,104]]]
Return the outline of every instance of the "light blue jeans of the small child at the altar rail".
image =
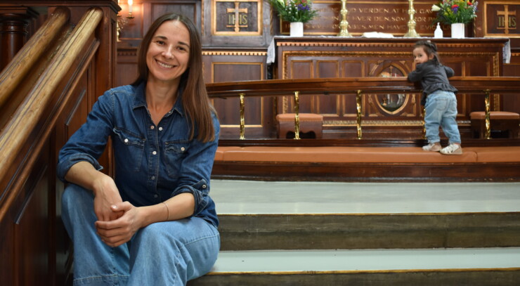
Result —
[[[441,142],[438,127],[441,126],[450,143],[460,143],[457,126],[457,98],[451,91],[435,91],[426,98],[424,126],[428,143]]]

